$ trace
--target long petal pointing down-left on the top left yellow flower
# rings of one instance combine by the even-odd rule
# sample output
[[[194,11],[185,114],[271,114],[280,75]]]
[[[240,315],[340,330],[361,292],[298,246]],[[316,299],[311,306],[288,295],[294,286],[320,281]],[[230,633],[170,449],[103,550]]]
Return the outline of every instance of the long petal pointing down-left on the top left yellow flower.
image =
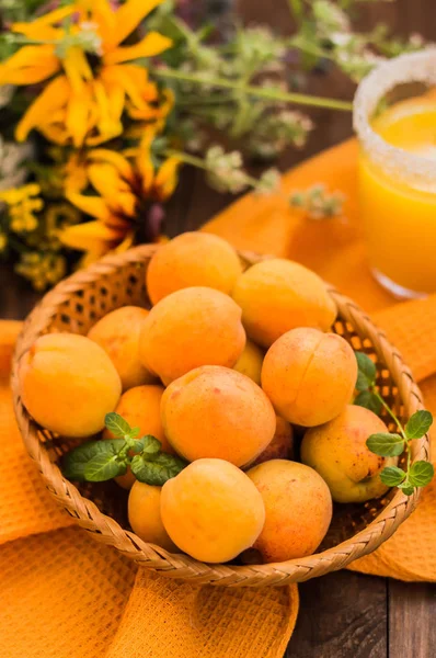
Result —
[[[70,91],[71,88],[65,76],[58,76],[51,80],[18,124],[15,129],[16,140],[24,141],[32,128],[46,125],[47,117],[66,105]]]

